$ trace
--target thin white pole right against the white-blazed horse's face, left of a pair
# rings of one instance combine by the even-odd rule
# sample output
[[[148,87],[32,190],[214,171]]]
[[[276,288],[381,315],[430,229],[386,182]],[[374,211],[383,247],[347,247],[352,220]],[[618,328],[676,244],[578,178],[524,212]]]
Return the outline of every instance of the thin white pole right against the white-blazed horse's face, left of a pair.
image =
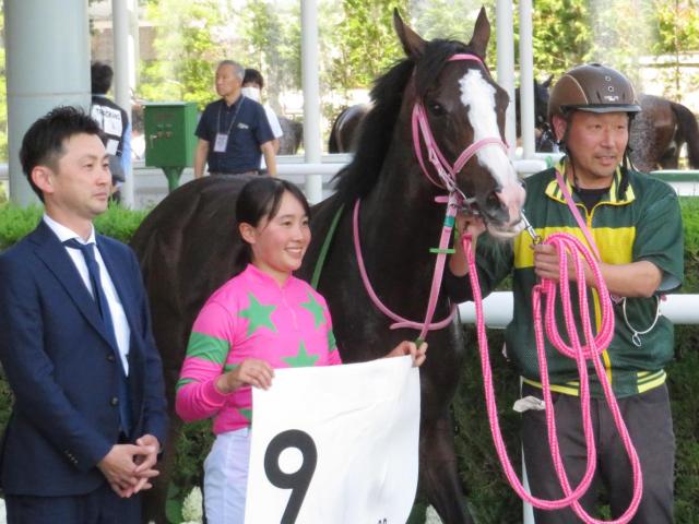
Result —
[[[505,121],[505,140],[510,145],[510,157],[514,156],[517,129],[514,126],[514,34],[512,2],[497,0],[495,20],[497,23],[498,84],[510,96]]]

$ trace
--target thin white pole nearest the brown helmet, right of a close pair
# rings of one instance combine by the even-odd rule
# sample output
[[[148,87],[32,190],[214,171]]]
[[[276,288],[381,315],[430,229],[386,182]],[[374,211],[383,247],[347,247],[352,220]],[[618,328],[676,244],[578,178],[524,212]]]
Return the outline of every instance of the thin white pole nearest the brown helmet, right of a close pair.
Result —
[[[520,0],[520,118],[522,158],[534,157],[534,51],[532,0]]]

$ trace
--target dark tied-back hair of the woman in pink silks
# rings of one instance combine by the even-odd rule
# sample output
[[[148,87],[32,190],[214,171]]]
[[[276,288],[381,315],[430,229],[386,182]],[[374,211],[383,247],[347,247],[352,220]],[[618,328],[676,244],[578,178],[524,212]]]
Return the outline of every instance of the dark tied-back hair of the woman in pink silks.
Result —
[[[273,177],[258,177],[246,183],[240,190],[236,202],[236,222],[250,224],[252,227],[260,225],[262,219],[272,221],[280,211],[284,193],[291,193],[304,206],[306,215],[310,217],[310,205],[306,196],[293,182]],[[237,230],[237,229],[236,229]],[[241,240],[242,249],[236,258],[235,273],[245,270],[252,262],[252,249],[245,241],[240,231],[237,233]]]

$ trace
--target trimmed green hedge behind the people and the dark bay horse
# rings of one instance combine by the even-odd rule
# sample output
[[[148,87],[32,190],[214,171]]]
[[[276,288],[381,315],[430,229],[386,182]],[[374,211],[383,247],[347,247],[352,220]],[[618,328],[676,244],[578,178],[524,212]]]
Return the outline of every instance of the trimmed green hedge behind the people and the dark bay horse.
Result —
[[[699,199],[682,199],[685,221],[686,282],[684,293],[699,293]],[[0,250],[5,249],[31,231],[42,214],[40,207],[17,209],[0,204]],[[96,222],[103,234],[128,241],[145,212],[131,212],[111,206]],[[1,283],[0,283],[1,285]],[[483,398],[483,381],[477,344],[473,329],[465,327],[467,356],[458,394],[452,408],[457,433],[457,455],[471,507],[477,522],[482,524],[508,524],[522,520],[522,504],[506,484],[493,448]],[[494,366],[498,412],[502,433],[508,440],[512,463],[518,466],[519,439],[517,414],[511,405],[517,398],[518,379],[499,353],[501,332],[489,331],[488,340]],[[697,522],[696,507],[699,503],[699,326],[678,326],[676,360],[668,367],[668,384],[673,404],[675,434],[677,437],[676,467],[676,522]],[[9,416],[11,393],[4,381],[0,381],[0,427]],[[201,462],[211,442],[206,422],[189,425],[177,446],[177,474],[173,479],[171,504],[168,513],[178,520],[179,501],[191,486],[201,483]],[[418,522],[412,520],[411,522]]]

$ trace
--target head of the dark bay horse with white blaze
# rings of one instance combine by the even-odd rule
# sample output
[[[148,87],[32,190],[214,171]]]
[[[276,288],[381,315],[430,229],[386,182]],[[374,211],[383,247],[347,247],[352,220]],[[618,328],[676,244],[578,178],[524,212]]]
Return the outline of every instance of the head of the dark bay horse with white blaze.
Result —
[[[428,179],[457,194],[463,212],[481,215],[501,238],[522,229],[524,190],[505,143],[509,97],[485,53],[490,24],[482,9],[469,45],[424,40],[394,11],[394,26],[413,79],[401,109],[411,118],[415,155]],[[412,96],[411,96],[412,95]],[[410,117],[408,117],[410,115]]]

